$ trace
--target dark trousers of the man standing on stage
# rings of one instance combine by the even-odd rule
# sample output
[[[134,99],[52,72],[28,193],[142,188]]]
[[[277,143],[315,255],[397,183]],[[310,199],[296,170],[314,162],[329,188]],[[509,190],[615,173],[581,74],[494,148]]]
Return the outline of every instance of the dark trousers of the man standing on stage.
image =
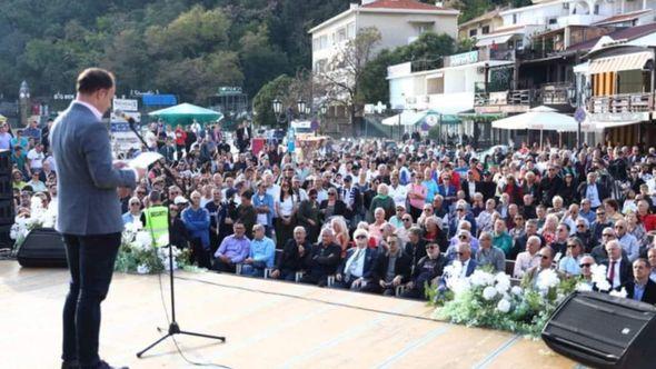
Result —
[[[78,360],[81,368],[98,365],[100,302],[107,297],[121,233],[63,235],[71,273],[63,305],[64,361]]]

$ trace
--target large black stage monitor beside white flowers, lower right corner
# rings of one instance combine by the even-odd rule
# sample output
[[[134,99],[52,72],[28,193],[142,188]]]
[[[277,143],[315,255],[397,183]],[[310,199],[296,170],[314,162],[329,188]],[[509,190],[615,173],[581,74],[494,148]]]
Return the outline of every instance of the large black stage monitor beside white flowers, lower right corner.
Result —
[[[654,368],[656,308],[599,292],[574,292],[543,330],[554,351],[594,368]]]

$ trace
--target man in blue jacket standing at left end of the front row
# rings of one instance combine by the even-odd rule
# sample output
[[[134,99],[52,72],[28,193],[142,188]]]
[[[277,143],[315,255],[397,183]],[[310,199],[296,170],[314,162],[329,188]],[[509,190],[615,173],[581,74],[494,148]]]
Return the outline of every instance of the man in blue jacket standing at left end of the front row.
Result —
[[[191,239],[191,260],[201,268],[211,268],[209,259],[209,211],[200,207],[200,192],[191,192],[191,206],[182,210],[182,221]]]

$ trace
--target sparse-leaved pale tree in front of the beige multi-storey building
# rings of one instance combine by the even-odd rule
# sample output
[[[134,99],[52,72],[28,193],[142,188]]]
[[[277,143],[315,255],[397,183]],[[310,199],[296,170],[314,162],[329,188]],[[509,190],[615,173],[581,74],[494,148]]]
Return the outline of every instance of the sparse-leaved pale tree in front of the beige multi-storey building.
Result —
[[[362,28],[352,40],[346,42],[328,60],[327,71],[315,76],[317,87],[330,104],[346,107],[354,136],[357,133],[356,119],[365,100],[361,91],[365,68],[380,42],[377,28]]]

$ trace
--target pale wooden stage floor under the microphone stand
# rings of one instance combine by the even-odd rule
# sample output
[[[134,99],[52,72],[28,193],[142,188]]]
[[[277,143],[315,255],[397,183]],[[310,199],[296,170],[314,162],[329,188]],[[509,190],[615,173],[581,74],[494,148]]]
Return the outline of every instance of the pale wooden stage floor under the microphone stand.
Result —
[[[427,319],[419,301],[217,273],[180,272],[181,329],[192,361],[230,368],[577,368],[541,341]],[[67,270],[0,261],[2,368],[58,368]],[[168,276],[162,276],[168,307]],[[169,339],[157,276],[116,273],[102,309],[101,357],[131,368],[188,368]]]

